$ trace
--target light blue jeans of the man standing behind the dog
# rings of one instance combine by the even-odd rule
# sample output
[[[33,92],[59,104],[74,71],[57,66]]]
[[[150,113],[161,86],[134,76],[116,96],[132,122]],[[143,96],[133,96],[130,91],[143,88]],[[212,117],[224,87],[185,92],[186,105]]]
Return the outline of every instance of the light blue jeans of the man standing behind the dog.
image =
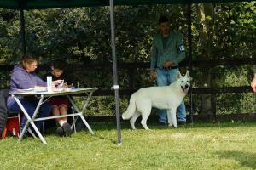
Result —
[[[177,79],[177,69],[157,69],[156,81],[158,86],[168,86]],[[159,122],[167,122],[166,110],[160,110],[158,113]],[[177,121],[186,122],[186,107],[184,101],[177,107]]]

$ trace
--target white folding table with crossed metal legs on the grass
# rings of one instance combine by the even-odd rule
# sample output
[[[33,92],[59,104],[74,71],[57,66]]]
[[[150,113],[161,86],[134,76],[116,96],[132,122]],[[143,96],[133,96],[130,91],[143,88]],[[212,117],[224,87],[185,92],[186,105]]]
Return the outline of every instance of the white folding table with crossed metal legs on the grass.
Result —
[[[45,139],[44,139],[44,137],[39,132],[38,127],[36,127],[34,122],[36,122],[36,121],[44,121],[44,120],[48,120],[48,119],[55,119],[55,118],[60,118],[60,117],[67,117],[67,116],[76,116],[75,119],[73,120],[72,125],[71,125],[72,128],[74,127],[75,122],[77,121],[78,117],[80,117],[82,119],[82,121],[84,122],[84,125],[90,131],[90,133],[94,134],[94,132],[90,128],[90,125],[84,119],[83,113],[86,111],[86,107],[87,107],[87,105],[89,103],[91,95],[97,89],[98,88],[75,88],[75,89],[72,89],[71,91],[63,91],[63,92],[34,92],[34,91],[19,92],[19,91],[17,91],[15,93],[11,94],[12,97],[14,97],[15,101],[17,102],[17,104],[20,106],[21,111],[24,113],[24,115],[27,118],[26,125],[25,125],[25,127],[23,128],[23,130],[22,130],[22,132],[20,134],[19,140],[22,139],[22,137],[24,136],[24,133],[26,132],[26,129],[28,128],[29,124],[31,124],[33,129],[35,130],[35,132],[38,134],[38,137],[43,142],[43,144],[47,144]],[[73,94],[86,94],[87,95],[87,99],[84,100],[82,111],[80,111],[78,106],[75,105],[75,103],[73,101],[73,98],[71,97],[71,95],[73,95]],[[73,109],[75,110],[74,113],[63,115],[63,116],[48,116],[48,117],[37,118],[39,108],[40,108],[41,105],[44,104],[44,102],[47,102],[47,100],[49,98],[53,97],[53,96],[63,96],[63,95],[67,96],[68,100],[73,105]],[[32,117],[27,114],[26,109],[20,103],[20,97],[22,98],[22,97],[25,97],[25,96],[38,96],[38,98],[39,98],[38,105],[37,105],[36,110],[34,111]]]

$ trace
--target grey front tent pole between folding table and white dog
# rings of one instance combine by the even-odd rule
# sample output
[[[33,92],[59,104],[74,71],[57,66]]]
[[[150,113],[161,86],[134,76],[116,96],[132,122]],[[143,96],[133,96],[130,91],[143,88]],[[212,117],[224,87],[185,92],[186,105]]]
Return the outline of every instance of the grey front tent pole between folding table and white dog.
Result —
[[[114,89],[114,99],[115,99],[115,114],[117,122],[117,136],[118,144],[121,145],[121,127],[120,127],[120,116],[119,116],[119,84],[118,84],[118,74],[117,74],[117,59],[115,50],[115,35],[114,35],[114,20],[113,20],[113,0],[109,0],[109,10],[110,10],[110,25],[111,25],[111,46],[112,46],[112,58],[113,58],[113,89]]]

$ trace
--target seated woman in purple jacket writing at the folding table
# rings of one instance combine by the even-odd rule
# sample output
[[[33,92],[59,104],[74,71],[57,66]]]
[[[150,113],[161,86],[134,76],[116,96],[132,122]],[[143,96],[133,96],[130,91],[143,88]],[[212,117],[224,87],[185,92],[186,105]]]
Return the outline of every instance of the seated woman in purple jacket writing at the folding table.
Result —
[[[15,65],[14,70],[11,74],[10,81],[10,91],[12,94],[18,89],[27,89],[35,88],[35,86],[47,86],[47,82],[44,82],[41,78],[37,76],[34,72],[38,67],[38,59],[32,55],[24,55],[21,59],[20,65]],[[53,85],[59,83],[60,81],[52,82]],[[26,109],[26,112],[29,116],[32,117],[36,107],[38,105],[38,99],[35,97],[25,97],[20,99],[20,103]],[[21,111],[20,106],[16,103],[15,99],[12,96],[9,96],[7,99],[7,107],[12,111]],[[40,106],[39,116],[45,117],[49,116],[51,111],[50,105],[46,102]],[[25,127],[26,116],[23,116],[21,121],[21,130]],[[36,126],[40,131],[42,127],[42,121],[36,122]]]

